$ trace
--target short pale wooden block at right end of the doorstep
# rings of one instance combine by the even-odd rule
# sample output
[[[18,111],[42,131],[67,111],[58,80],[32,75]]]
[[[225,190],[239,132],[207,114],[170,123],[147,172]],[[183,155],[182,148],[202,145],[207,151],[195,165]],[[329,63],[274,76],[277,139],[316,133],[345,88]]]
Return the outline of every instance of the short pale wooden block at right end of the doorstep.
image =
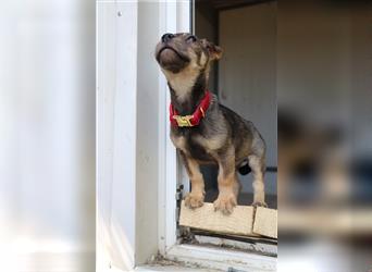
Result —
[[[277,239],[277,210],[258,207],[253,233]]]

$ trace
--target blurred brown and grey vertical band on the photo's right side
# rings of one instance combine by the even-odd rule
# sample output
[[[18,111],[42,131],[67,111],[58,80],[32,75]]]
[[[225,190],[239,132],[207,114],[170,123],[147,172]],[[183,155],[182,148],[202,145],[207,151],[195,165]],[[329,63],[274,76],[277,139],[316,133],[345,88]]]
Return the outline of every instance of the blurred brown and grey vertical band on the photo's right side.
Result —
[[[278,1],[278,271],[372,271],[371,1]]]

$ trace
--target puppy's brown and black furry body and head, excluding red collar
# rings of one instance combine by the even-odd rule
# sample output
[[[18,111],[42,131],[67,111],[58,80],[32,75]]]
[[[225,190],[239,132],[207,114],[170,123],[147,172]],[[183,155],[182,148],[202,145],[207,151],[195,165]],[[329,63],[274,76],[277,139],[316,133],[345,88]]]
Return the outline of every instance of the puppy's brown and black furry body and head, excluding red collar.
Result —
[[[193,114],[208,90],[210,63],[220,59],[222,49],[190,34],[165,34],[156,48],[156,59],[164,73],[173,107],[179,115]],[[215,210],[225,214],[237,205],[237,170],[248,161],[253,173],[253,205],[265,206],[265,144],[249,121],[219,103],[212,96],[206,118],[198,126],[172,126],[171,139],[179,150],[191,181],[185,203],[201,207],[204,182],[200,164],[219,165],[219,197]]]

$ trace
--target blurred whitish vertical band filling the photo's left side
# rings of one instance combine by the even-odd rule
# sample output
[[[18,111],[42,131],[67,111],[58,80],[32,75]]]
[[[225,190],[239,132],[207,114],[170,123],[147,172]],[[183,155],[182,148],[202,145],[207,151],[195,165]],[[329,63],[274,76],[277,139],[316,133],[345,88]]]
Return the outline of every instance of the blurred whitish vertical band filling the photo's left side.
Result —
[[[94,1],[1,2],[1,271],[95,269],[95,24]]]

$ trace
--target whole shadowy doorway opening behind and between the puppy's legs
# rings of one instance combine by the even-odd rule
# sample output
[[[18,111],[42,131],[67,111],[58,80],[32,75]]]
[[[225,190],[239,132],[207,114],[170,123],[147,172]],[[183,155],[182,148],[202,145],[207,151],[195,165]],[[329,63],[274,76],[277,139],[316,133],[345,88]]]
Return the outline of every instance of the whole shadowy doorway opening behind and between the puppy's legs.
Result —
[[[276,209],[276,1],[195,1],[199,38],[219,45],[209,89],[222,104],[253,122],[266,143],[265,200]],[[218,197],[216,166],[202,166],[206,201]],[[251,205],[252,174],[240,175],[238,205]]]

